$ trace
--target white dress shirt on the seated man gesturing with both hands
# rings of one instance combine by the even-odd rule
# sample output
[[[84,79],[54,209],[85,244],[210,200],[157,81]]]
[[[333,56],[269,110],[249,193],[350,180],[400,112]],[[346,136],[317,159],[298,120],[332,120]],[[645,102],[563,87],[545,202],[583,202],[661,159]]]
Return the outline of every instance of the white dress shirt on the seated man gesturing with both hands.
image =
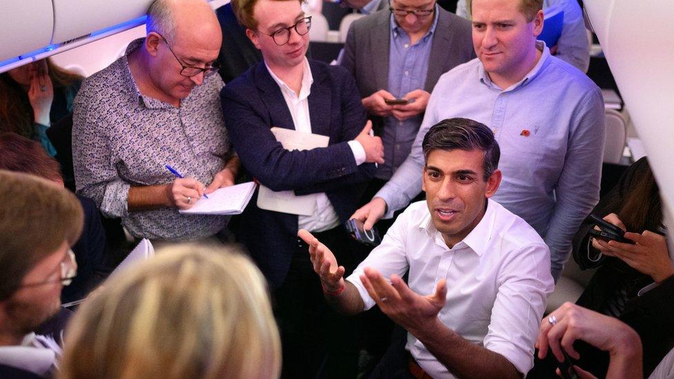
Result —
[[[447,303],[438,317],[474,344],[508,359],[517,371],[533,367],[534,343],[554,283],[550,251],[529,224],[493,200],[475,228],[452,249],[435,229],[426,202],[398,217],[383,242],[347,278],[365,309],[374,306],[360,275],[365,267],[385,278],[410,271],[410,289],[434,293],[447,280]],[[424,346],[407,333],[407,350],[433,378],[454,378]]]

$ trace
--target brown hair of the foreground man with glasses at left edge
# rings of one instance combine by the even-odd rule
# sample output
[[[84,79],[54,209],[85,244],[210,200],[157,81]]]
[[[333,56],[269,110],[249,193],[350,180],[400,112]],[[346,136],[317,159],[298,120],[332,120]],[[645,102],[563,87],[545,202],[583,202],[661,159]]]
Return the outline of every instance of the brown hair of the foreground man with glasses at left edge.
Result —
[[[84,212],[66,188],[26,173],[0,170],[0,199],[1,301],[19,289],[39,261],[64,242],[77,242]]]

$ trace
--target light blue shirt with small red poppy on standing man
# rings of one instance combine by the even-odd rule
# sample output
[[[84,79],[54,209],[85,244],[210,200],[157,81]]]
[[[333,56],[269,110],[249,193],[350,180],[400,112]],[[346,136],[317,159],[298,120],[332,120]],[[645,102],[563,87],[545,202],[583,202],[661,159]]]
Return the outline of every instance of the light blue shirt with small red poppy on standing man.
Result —
[[[479,61],[440,77],[410,157],[379,191],[387,217],[421,191],[421,142],[437,122],[466,117],[494,130],[503,181],[494,200],[528,222],[550,246],[557,278],[571,240],[599,200],[605,116],[601,91],[586,75],[543,49],[519,83],[502,90]]]

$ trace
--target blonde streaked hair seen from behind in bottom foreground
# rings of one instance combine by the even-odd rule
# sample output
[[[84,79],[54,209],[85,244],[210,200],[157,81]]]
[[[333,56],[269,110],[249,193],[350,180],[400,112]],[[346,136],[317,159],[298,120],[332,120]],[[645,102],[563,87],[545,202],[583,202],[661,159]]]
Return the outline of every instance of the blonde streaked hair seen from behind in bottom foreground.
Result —
[[[238,248],[177,245],[112,278],[70,323],[60,378],[278,378],[260,271]]]

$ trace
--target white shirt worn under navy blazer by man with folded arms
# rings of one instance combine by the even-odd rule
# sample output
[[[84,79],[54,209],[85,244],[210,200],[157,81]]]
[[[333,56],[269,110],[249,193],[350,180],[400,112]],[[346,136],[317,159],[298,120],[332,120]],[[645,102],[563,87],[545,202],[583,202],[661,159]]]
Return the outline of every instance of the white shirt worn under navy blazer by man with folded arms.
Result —
[[[267,63],[265,63],[265,66]],[[311,117],[309,115],[309,95],[311,95],[311,84],[314,83],[314,75],[311,75],[311,66],[309,61],[305,58],[305,70],[302,75],[302,87],[299,95],[295,93],[287,84],[279,79],[267,66],[269,75],[276,81],[281,90],[283,99],[290,110],[290,115],[293,117],[293,124],[295,130],[302,133],[311,133]],[[319,115],[316,115],[319,117]],[[356,164],[360,166],[365,162],[365,149],[360,145],[360,142],[349,141],[349,147],[354,153]],[[330,204],[330,200],[325,193],[316,194],[316,211],[313,215],[298,217],[298,224],[300,229],[306,229],[311,232],[320,232],[333,229],[339,225],[339,217],[335,208]]]

